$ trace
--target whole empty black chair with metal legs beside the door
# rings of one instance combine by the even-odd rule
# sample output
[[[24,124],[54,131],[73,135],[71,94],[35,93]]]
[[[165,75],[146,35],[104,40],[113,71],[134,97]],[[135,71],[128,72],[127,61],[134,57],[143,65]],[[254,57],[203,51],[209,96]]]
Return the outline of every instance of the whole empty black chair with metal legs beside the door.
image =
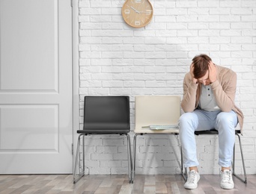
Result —
[[[84,116],[83,130],[77,131],[79,137],[73,171],[73,184],[76,184],[85,175],[85,137],[108,134],[125,135],[127,137],[128,174],[129,183],[131,183],[132,151],[128,134],[130,131],[129,96],[85,96],[85,101],[84,111],[88,116]],[[81,146],[82,151],[80,150]],[[78,166],[79,169],[77,169]]]

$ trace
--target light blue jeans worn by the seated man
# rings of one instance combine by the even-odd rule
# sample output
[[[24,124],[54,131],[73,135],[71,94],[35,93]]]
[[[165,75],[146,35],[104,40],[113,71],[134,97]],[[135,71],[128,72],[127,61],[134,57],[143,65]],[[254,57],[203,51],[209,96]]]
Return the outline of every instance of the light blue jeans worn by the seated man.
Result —
[[[219,165],[231,166],[237,114],[231,112],[194,110],[183,113],[179,120],[180,143],[183,148],[183,165],[185,167],[198,166],[196,154],[195,131],[205,131],[215,128],[219,131]]]

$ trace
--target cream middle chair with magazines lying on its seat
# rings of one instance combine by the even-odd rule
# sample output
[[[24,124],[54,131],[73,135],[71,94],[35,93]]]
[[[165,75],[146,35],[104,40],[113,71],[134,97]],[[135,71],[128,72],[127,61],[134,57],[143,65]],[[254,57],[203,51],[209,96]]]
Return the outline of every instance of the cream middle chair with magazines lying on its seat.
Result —
[[[137,104],[138,103],[138,104]],[[156,118],[158,117],[158,118]],[[163,119],[164,118],[164,119]],[[143,125],[177,124],[180,118],[180,96],[136,96],[135,97],[135,130],[133,138],[132,183],[135,177],[136,142],[138,135],[178,135],[178,129],[152,131],[142,128]],[[171,123],[168,123],[171,122]]]

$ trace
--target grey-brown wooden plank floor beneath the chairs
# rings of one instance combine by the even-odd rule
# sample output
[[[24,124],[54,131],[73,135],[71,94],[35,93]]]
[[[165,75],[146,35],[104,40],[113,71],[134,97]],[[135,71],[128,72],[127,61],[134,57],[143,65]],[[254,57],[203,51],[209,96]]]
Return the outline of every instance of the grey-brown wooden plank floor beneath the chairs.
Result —
[[[219,187],[219,175],[201,175],[196,190],[185,190],[181,175],[86,175],[73,184],[73,175],[0,175],[0,193],[256,193],[256,175],[248,183],[234,178],[234,190]]]

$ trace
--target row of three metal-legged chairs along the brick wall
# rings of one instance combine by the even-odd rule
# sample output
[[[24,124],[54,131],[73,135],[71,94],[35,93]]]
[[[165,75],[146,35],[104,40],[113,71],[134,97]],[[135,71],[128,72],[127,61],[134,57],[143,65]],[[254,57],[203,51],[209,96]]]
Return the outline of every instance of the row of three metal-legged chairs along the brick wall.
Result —
[[[137,136],[144,134],[171,134],[177,136],[179,130],[177,122],[180,118],[180,96],[135,96],[135,129],[133,138],[133,157],[130,143],[130,109],[129,96],[85,96],[84,123],[79,134],[76,148],[76,162],[73,171],[73,183],[79,181],[85,175],[85,137],[97,134],[118,134],[127,137],[127,157],[129,183],[133,183],[135,177],[135,157]],[[152,125],[155,125],[152,130]],[[156,128],[164,126],[162,128]],[[160,129],[160,130],[158,130]],[[214,134],[218,131],[196,131],[195,135]],[[240,143],[240,153],[243,162],[243,175],[240,178],[235,173],[235,145],[233,158],[233,174],[241,181],[247,183],[246,168],[243,159],[243,150],[240,141],[240,131],[236,131]],[[82,142],[82,143],[81,143]],[[80,150],[82,148],[82,151]],[[183,154],[180,146],[181,175],[186,180],[186,168],[183,167]],[[132,161],[133,159],[133,161]]]

